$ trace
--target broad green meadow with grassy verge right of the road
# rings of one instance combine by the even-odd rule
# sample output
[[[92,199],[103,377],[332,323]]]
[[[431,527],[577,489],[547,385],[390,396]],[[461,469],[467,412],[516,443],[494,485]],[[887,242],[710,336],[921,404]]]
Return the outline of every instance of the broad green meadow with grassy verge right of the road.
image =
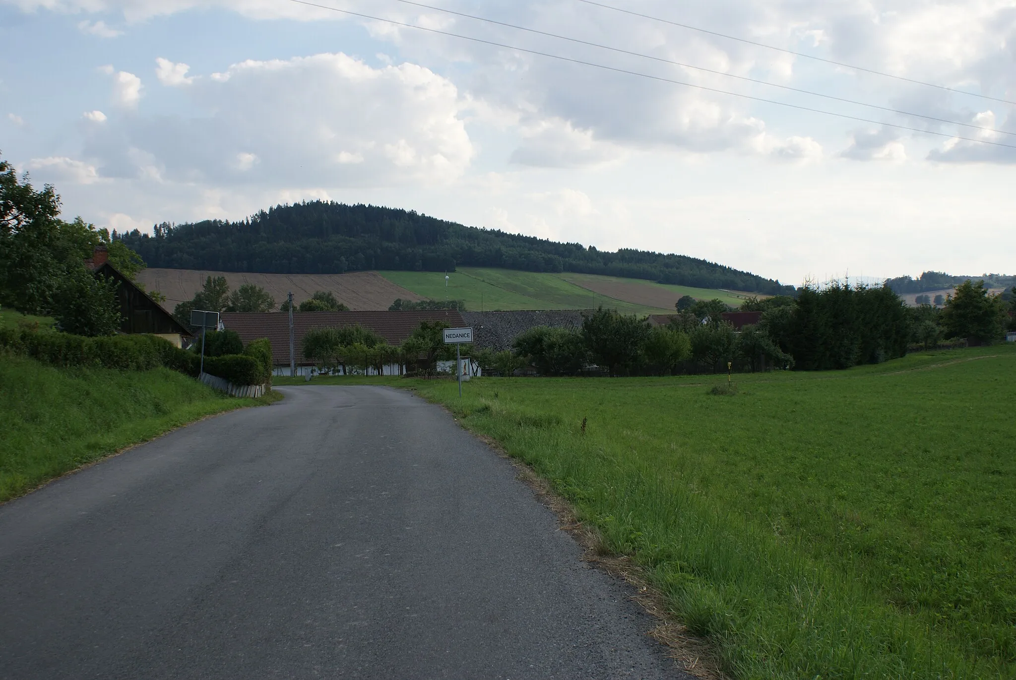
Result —
[[[548,479],[736,678],[1016,677],[1016,347],[734,379],[391,383]]]

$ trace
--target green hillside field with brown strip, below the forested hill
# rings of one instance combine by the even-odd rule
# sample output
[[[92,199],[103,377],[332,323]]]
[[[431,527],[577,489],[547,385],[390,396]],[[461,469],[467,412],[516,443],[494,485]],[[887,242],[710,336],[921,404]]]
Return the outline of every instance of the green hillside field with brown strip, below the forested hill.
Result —
[[[613,307],[626,314],[666,314],[674,313],[674,303],[682,295],[695,298],[720,298],[732,305],[740,304],[740,299],[724,291],[662,286],[652,282],[634,279],[615,279],[593,274],[545,273],[493,269],[482,267],[459,267],[448,274],[448,291],[445,292],[445,274],[434,271],[380,271],[382,276],[397,286],[434,300],[465,300],[469,311],[514,310],[514,309],[595,309]],[[580,282],[582,285],[572,283]],[[626,302],[624,299],[597,293],[583,285],[600,291],[617,288],[618,282],[626,284],[622,295],[632,290],[644,289],[646,299],[658,299],[653,304]],[[659,295],[660,290],[664,295]],[[636,296],[634,299],[642,299]],[[670,298],[673,297],[673,301]],[[664,303],[670,303],[664,306]]]

